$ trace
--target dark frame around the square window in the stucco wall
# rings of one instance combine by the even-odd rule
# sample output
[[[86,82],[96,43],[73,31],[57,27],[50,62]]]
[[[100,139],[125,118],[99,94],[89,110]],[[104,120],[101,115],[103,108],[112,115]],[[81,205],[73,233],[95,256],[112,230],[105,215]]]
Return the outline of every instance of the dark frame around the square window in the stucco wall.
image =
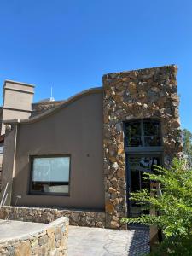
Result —
[[[68,193],[57,193],[57,192],[39,192],[32,190],[32,172],[33,172],[33,162],[35,158],[56,158],[56,157],[68,157],[69,158],[69,180],[68,180]],[[38,154],[30,155],[30,175],[28,184],[28,195],[49,195],[49,196],[70,196],[70,184],[71,184],[71,154]],[[63,182],[65,183],[65,182]]]

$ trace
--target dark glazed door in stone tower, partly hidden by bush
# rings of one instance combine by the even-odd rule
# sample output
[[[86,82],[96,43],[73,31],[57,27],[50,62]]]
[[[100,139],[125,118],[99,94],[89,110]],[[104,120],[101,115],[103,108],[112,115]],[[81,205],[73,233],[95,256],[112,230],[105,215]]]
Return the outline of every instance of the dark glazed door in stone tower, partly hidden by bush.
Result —
[[[150,189],[150,182],[143,179],[144,172],[154,172],[154,165],[160,166],[160,155],[158,154],[126,154],[126,177],[127,177],[127,202],[128,217],[135,218],[142,213],[149,213],[143,210],[137,202],[130,200],[130,193],[141,189]]]

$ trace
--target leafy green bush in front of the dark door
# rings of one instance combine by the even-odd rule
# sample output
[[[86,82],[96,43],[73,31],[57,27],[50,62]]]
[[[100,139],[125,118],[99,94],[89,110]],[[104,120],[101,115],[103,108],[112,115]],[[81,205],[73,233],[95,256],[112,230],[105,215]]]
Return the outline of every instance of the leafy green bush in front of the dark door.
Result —
[[[159,216],[143,214],[123,218],[122,222],[154,225],[162,230],[165,240],[159,254],[153,255],[192,255],[192,170],[186,169],[184,160],[175,159],[170,170],[156,166],[154,174],[145,173],[145,179],[160,183],[160,191],[143,189],[131,193],[131,200],[154,209]]]

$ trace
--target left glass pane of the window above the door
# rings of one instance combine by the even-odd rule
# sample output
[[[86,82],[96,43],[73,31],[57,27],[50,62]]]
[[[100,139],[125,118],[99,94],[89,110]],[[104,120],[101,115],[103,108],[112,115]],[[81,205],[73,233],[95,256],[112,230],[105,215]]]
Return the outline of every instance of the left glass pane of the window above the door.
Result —
[[[141,123],[133,122],[126,125],[125,129],[126,146],[139,147],[142,146]]]

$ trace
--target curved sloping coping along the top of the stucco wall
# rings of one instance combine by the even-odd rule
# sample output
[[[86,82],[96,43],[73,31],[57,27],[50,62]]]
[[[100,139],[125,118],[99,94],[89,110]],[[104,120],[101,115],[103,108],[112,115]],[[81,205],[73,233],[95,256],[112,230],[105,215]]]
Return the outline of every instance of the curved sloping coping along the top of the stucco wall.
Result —
[[[70,98],[68,98],[61,105],[55,106],[54,108],[51,108],[51,109],[48,109],[44,113],[39,113],[37,116],[34,116],[31,119],[4,120],[3,124],[9,125],[9,124],[31,124],[31,123],[35,123],[35,122],[38,122],[41,119],[44,119],[44,118],[56,113],[61,108],[66,108],[69,104],[79,100],[80,98],[82,98],[84,96],[88,96],[90,94],[99,93],[99,92],[102,92],[102,87],[95,87],[95,88],[90,88],[88,90],[83,90],[83,91],[75,94],[74,96],[71,96]]]

